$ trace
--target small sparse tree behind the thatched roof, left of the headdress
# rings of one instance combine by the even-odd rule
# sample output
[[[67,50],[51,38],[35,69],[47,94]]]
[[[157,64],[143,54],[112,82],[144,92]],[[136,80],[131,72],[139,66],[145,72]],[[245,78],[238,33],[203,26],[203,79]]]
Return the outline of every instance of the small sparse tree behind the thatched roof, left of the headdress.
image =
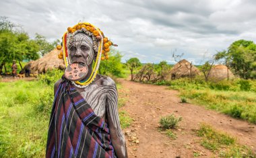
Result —
[[[39,52],[42,56],[44,56],[44,54],[50,52],[51,50],[53,50],[55,48],[55,44],[58,42],[57,40],[55,40],[55,42],[53,42],[52,44],[50,42],[47,42],[46,38],[40,34],[36,33],[36,38],[35,38],[35,42],[36,44],[38,44],[39,46]]]

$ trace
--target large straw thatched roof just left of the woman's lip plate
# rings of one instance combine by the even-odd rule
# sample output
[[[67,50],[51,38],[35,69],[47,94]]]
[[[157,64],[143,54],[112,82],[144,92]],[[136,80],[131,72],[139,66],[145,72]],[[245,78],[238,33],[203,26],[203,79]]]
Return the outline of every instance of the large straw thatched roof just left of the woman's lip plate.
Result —
[[[36,61],[30,61],[27,65],[25,65],[24,69],[29,69],[30,73],[46,73],[46,71],[52,69],[65,69],[65,65],[63,60],[58,58],[60,50],[56,48],[51,52],[42,56]]]

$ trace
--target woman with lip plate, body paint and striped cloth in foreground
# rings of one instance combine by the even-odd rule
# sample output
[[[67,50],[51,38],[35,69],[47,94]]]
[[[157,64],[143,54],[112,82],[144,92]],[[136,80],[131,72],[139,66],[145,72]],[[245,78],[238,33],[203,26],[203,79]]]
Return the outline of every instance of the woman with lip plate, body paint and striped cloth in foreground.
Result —
[[[117,87],[98,75],[112,42],[79,23],[63,35],[65,75],[55,83],[46,157],[128,157],[117,110]]]

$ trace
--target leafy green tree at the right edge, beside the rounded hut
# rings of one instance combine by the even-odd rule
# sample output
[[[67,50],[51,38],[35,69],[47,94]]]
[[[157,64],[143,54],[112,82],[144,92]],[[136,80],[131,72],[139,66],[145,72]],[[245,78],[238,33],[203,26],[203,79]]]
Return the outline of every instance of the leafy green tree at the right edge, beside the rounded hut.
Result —
[[[256,44],[253,41],[237,40],[228,50],[218,52],[215,58],[223,59],[227,67],[232,68],[243,79],[256,78]]]

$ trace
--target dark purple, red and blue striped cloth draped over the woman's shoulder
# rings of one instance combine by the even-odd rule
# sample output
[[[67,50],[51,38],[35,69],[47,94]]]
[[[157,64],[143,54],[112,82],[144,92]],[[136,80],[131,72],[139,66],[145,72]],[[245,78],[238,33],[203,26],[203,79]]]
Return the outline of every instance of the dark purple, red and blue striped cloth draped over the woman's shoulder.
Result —
[[[46,157],[116,157],[106,122],[65,79],[53,102]]]

